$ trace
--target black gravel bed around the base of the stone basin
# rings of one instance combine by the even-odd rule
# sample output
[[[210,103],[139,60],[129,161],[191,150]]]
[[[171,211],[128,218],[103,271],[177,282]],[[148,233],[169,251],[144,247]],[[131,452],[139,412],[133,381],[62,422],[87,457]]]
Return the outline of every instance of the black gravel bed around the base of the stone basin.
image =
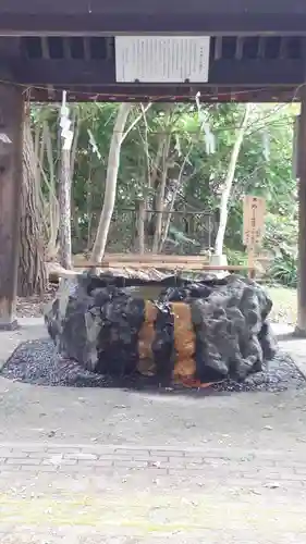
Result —
[[[84,370],[77,362],[64,359],[56,351],[50,339],[26,342],[17,347],[4,364],[1,375],[9,380],[48,386],[70,387],[124,387],[133,390],[158,388],[156,379],[128,376],[112,379]],[[200,390],[203,394],[230,392],[280,392],[289,388],[297,390],[306,386],[291,357],[280,353],[265,372],[249,375],[243,383],[225,380],[216,383],[208,390]],[[169,390],[167,390],[169,391]],[[175,386],[173,392],[186,388]]]

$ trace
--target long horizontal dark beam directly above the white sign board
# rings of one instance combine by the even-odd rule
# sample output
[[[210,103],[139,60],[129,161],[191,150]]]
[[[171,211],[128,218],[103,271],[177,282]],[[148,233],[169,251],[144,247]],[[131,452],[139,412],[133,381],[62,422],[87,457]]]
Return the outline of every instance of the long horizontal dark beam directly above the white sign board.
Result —
[[[118,15],[22,15],[2,14],[0,33],[13,35],[118,35],[118,34],[283,34],[305,35],[306,13],[296,15],[248,14],[233,15],[222,13],[169,13],[136,14],[121,13]]]

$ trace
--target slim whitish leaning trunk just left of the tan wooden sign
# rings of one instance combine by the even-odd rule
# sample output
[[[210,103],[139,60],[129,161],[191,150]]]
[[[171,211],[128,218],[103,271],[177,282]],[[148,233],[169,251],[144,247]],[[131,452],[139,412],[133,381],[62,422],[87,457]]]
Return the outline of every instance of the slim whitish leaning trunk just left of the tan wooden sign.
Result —
[[[234,143],[232,154],[230,159],[230,164],[228,169],[228,174],[224,182],[224,188],[220,200],[220,221],[217,232],[217,237],[215,242],[215,255],[221,256],[223,254],[224,236],[228,224],[229,217],[229,200],[231,196],[231,190],[233,186],[236,164],[238,160],[240,150],[243,143],[243,137],[247,127],[247,121],[249,118],[250,104],[247,103],[245,107],[242,124],[236,134],[236,140]]]

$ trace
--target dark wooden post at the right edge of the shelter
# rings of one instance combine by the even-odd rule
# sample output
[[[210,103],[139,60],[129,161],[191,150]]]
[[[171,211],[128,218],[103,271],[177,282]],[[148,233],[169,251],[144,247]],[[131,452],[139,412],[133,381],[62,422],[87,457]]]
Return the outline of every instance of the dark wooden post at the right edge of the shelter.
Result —
[[[295,333],[306,336],[306,91],[302,91],[297,143],[298,176],[298,283],[297,326]]]

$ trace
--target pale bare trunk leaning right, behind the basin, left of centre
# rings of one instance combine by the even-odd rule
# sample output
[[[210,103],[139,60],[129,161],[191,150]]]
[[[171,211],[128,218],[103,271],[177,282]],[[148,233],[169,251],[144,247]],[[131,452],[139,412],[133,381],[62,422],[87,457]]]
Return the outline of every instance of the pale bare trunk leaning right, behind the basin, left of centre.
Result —
[[[124,138],[123,131],[131,108],[131,103],[121,103],[114,123],[108,158],[103,208],[100,215],[96,240],[91,251],[91,261],[94,263],[100,262],[106,251],[109,227],[115,202],[118,170],[120,165],[120,151],[121,144]]]

